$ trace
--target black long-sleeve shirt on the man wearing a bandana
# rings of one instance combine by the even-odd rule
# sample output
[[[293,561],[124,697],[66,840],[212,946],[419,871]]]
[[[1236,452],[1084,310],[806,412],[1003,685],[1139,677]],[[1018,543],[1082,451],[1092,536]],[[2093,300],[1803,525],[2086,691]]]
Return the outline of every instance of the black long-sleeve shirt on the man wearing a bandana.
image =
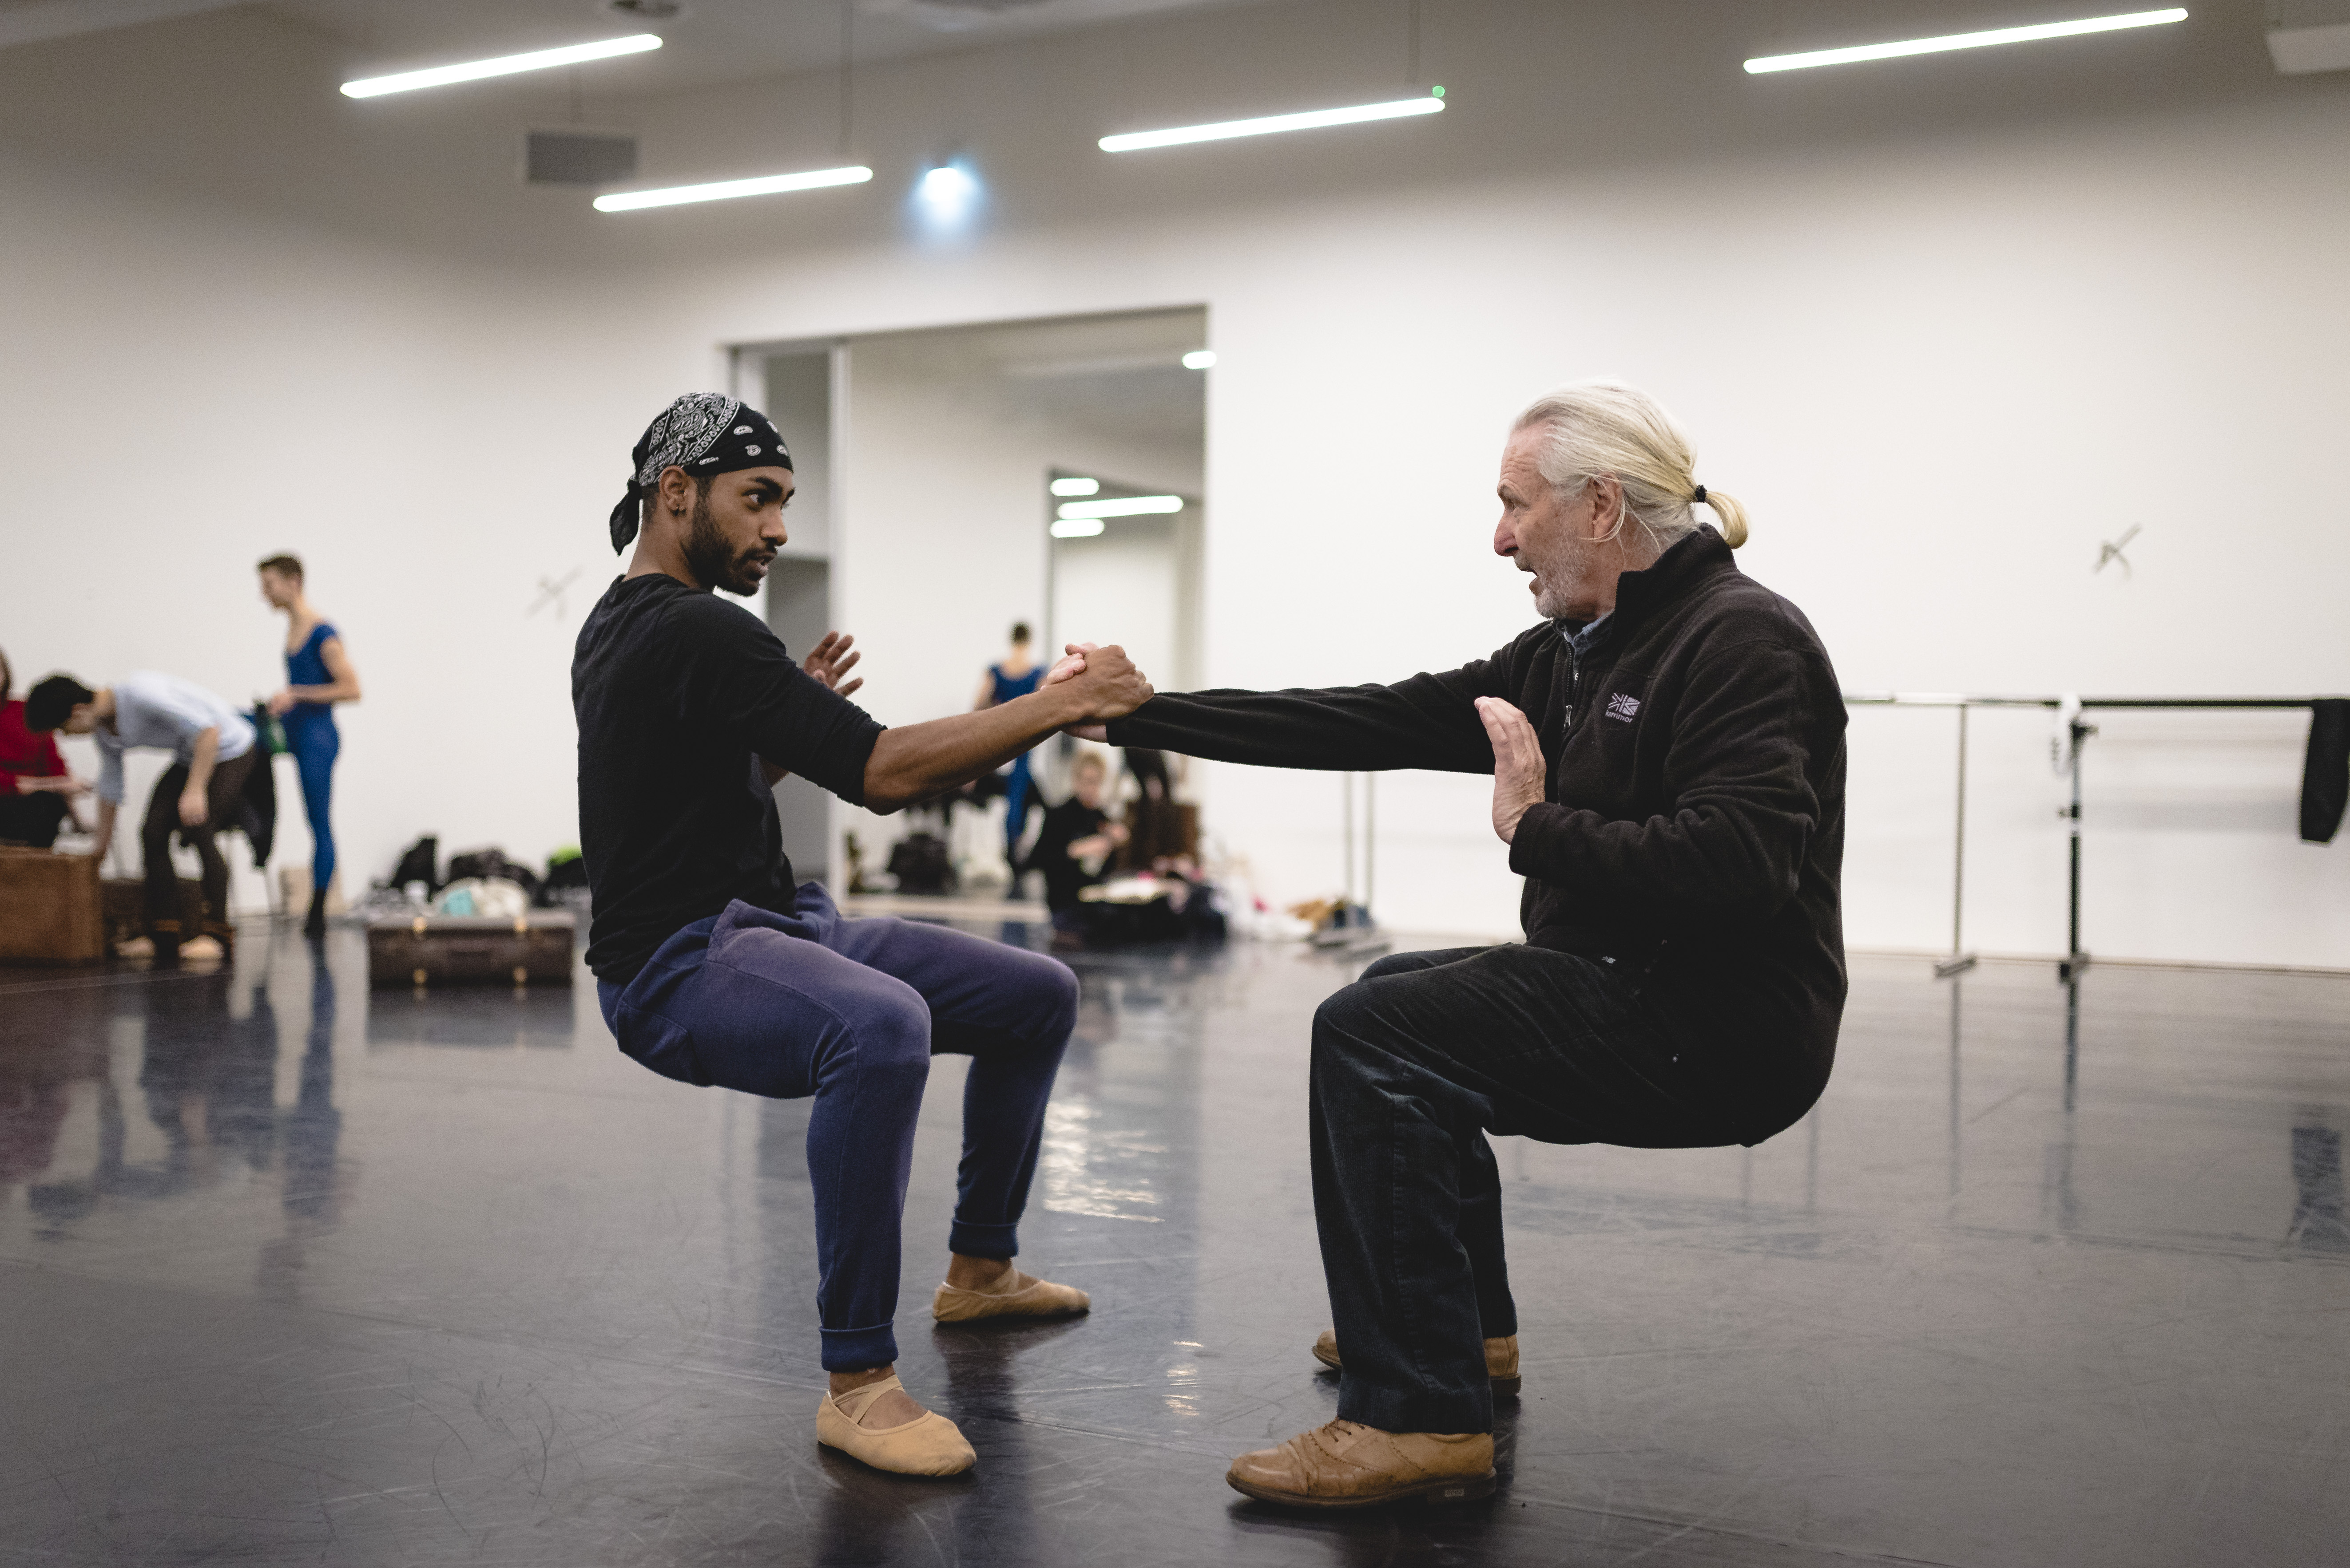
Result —
[[[757,615],[658,573],[616,580],[588,613],[571,711],[595,897],[588,967],[620,986],[733,899],[792,911],[792,861],[759,758],[858,805],[881,737]]]

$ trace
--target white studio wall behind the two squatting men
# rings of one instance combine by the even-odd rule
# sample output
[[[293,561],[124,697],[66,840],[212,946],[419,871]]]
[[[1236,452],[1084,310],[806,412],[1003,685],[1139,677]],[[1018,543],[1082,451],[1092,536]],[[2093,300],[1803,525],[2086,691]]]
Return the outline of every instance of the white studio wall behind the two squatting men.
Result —
[[[569,629],[522,620],[526,589],[609,559],[595,535],[627,441],[719,376],[724,343],[1203,303],[1210,683],[1396,678],[1506,641],[1528,606],[1485,554],[1502,427],[1544,383],[1612,371],[1664,397],[1699,477],[1748,502],[1744,566],[1814,617],[1847,685],[2350,688],[2331,474],[2350,77],[2275,77],[2249,5],[2037,52],[1737,70],[1760,47],[1880,35],[1894,12],[1922,14],[1812,0],[1772,7],[1762,38],[1732,0],[1436,7],[1429,73],[1452,108],[1434,122],[1128,160],[1090,138],[1384,92],[1391,40],[1349,26],[1354,7],[1302,5],[907,61],[860,80],[870,190],[627,223],[503,185],[470,150],[496,115],[472,108],[336,122],[341,141],[282,155],[275,209],[275,150],[228,148],[233,178],[174,167],[235,192],[204,216],[150,155],[68,134],[120,108],[108,92],[153,92],[141,49],[162,45],[45,47],[89,103],[45,103],[66,129],[5,155],[0,268],[42,315],[0,324],[21,366],[0,453],[19,477],[54,469],[148,399],[172,521],[19,479],[19,559],[63,587],[12,589],[0,636],[21,671],[164,662],[242,695],[270,650],[240,608],[244,563],[308,545],[374,688],[352,836],[383,847],[432,815],[536,852],[564,836],[548,824],[569,803]],[[186,54],[214,26],[261,23],[139,33]],[[757,124],[740,101],[632,106],[649,174],[740,171],[710,148],[820,155],[813,94],[778,85]],[[916,242],[898,209],[938,146],[971,148],[992,183],[992,228],[961,246]],[[407,232],[320,174],[338,148],[407,181]],[[411,148],[446,150],[437,183],[390,157]],[[289,441],[345,406],[357,479]],[[263,491],[275,516],[256,516],[256,451],[291,481]],[[844,613],[867,617],[877,711],[961,707],[1022,613],[1018,563],[954,559],[966,627],[938,603],[949,556],[893,552],[855,505]],[[82,512],[103,549],[61,526]],[[2136,575],[2092,575],[2129,523]],[[1946,728],[1913,718],[1854,721],[1854,944],[1946,937]],[[1974,939],[2054,951],[2044,730],[1983,721],[1979,739]],[[2345,850],[2291,840],[2287,725],[2148,716],[2094,744],[2094,951],[2350,962]],[[1330,779],[1213,772],[1210,826],[1271,890],[1335,885]],[[362,800],[362,777],[383,793]],[[1386,782],[1379,885],[1391,922],[1506,930],[1483,784]]]

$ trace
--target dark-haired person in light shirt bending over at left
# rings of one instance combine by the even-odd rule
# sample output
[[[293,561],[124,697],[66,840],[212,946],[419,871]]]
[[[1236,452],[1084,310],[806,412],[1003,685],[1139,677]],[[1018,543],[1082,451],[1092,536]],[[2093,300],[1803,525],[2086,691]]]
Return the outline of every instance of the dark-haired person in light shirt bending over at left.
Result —
[[[153,746],[172,765],[148,796],[139,845],[146,857],[146,937],[125,944],[125,958],[221,958],[235,941],[228,925],[228,861],[214,843],[235,824],[244,782],[261,758],[251,721],[228,702],[179,676],[139,671],[96,690],[73,676],[49,676],[26,697],[31,730],[63,730],[99,742],[99,843],[106,859],[122,807],[122,753]],[[204,915],[190,939],[181,930],[179,873],[172,833],[204,864]]]

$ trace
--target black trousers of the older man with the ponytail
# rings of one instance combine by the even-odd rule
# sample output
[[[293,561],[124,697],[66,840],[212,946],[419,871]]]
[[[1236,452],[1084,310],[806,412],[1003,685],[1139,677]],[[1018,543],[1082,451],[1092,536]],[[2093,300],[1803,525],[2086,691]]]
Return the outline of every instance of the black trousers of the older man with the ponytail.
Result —
[[[1687,1056],[1687,1061],[1683,1061]],[[1490,1432],[1488,1338],[1518,1331],[1488,1131],[1708,1148],[1741,1117],[1614,965],[1530,946],[1394,953],[1314,1014],[1314,1223],[1337,1413]]]

